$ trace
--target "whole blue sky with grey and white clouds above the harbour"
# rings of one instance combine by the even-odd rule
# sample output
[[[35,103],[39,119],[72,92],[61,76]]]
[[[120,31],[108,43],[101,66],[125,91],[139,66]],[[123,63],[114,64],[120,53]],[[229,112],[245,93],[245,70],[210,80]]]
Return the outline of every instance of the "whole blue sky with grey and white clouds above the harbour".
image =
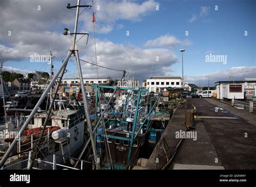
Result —
[[[90,4],[82,0],[81,4]],[[31,62],[31,55],[52,50],[55,70],[68,52],[76,0],[1,0],[0,62],[4,69],[22,74],[49,71],[48,62]],[[189,83],[213,85],[216,81],[256,77],[255,1],[93,1],[93,9],[79,16],[79,32],[90,34],[78,42],[80,59],[129,71],[140,83],[150,76],[184,76]],[[81,8],[81,11],[84,9]],[[92,11],[95,12],[95,38]],[[220,56],[221,55],[221,56]],[[208,60],[206,60],[208,57]],[[209,61],[210,57],[210,61]],[[214,62],[215,57],[218,62]],[[65,77],[77,77],[72,57]],[[216,61],[216,58],[215,58]],[[97,77],[96,66],[82,63],[84,77]],[[98,68],[99,77],[120,78],[120,71]]]

